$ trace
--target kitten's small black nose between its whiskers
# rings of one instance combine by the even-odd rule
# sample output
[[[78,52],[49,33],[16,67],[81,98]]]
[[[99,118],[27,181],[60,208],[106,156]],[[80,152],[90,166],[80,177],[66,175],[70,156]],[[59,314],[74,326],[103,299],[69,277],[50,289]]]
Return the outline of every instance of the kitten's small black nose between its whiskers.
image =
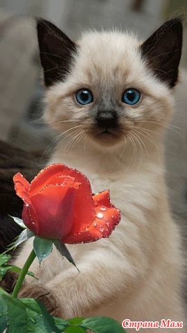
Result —
[[[115,111],[100,111],[97,115],[97,123],[100,128],[116,128],[117,114]]]

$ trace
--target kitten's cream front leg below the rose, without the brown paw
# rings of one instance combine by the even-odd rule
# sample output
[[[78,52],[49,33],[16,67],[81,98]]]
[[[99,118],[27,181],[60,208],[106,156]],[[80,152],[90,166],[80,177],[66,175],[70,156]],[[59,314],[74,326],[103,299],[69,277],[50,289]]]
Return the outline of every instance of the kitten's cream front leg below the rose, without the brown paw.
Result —
[[[114,253],[110,246],[85,253],[84,258],[76,261],[80,272],[70,266],[46,284],[60,305],[60,317],[94,313],[95,309],[108,305],[132,286],[136,279],[135,268],[126,257]]]

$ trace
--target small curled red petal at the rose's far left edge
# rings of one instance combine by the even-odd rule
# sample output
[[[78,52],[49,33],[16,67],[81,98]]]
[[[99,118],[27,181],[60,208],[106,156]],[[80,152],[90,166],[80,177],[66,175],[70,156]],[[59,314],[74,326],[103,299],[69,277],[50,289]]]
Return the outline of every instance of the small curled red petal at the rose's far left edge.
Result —
[[[17,196],[19,196],[19,198],[21,198],[25,204],[30,205],[30,198],[28,196],[28,189],[30,187],[29,182],[19,172],[15,174],[13,181],[15,183],[15,191]]]

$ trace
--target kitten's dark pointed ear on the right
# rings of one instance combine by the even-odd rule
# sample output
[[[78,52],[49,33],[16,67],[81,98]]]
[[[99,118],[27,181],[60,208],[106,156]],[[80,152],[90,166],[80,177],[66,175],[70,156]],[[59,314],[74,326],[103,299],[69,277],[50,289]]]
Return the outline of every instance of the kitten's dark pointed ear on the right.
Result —
[[[141,54],[154,74],[168,85],[177,82],[182,48],[182,19],[176,17],[164,23],[141,45]]]

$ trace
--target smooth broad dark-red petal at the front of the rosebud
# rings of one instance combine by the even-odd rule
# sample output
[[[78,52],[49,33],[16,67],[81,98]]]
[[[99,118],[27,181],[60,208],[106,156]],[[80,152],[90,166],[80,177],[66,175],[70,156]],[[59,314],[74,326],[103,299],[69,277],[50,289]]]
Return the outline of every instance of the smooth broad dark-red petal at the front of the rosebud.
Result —
[[[44,238],[62,239],[69,234],[73,225],[75,197],[78,183],[71,187],[46,185],[31,200],[35,211],[39,212],[38,235]]]

